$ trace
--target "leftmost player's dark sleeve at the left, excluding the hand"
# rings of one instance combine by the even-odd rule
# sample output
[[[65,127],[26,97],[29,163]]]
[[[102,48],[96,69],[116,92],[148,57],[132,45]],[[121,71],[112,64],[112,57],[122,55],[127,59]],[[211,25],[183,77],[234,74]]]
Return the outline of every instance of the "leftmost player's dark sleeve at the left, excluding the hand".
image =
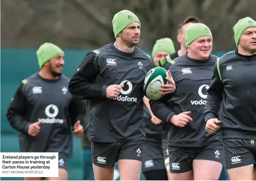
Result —
[[[13,127],[22,134],[28,135],[28,127],[31,123],[24,118],[26,116],[27,99],[22,91],[23,86],[24,84],[21,83],[16,90],[14,98],[11,101],[7,110],[6,116],[11,127]]]

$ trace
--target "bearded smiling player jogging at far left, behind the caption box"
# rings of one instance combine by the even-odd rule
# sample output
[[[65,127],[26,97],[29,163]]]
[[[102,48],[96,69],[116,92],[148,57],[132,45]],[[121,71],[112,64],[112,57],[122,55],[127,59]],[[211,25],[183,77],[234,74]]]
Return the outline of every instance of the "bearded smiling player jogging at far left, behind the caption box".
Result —
[[[19,132],[21,152],[58,152],[59,177],[68,179],[68,159],[72,156],[72,131],[81,137],[81,101],[68,91],[69,79],[62,73],[64,52],[44,43],[36,52],[40,71],[24,79],[7,110],[7,119]],[[43,178],[25,178],[43,180]]]

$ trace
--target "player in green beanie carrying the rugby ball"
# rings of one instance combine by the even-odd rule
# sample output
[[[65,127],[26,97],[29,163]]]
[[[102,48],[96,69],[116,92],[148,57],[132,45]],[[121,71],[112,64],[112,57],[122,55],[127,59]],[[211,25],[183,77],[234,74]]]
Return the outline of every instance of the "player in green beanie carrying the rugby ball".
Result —
[[[116,41],[86,54],[69,82],[69,90],[90,104],[88,138],[96,180],[113,180],[115,162],[121,180],[141,175],[145,140],[143,82],[154,68],[150,56],[135,47],[141,23],[131,11],[122,10],[112,20]],[[174,92],[172,78],[164,94]],[[128,171],[129,170],[129,171]]]

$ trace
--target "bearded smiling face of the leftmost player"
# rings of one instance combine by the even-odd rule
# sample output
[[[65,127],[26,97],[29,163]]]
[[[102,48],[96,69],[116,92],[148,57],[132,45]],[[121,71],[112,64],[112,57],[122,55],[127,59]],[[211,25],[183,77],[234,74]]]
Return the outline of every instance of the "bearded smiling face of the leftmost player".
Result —
[[[58,77],[62,74],[62,68],[64,65],[63,54],[58,54],[57,56],[49,60],[49,71],[52,73],[53,77]]]

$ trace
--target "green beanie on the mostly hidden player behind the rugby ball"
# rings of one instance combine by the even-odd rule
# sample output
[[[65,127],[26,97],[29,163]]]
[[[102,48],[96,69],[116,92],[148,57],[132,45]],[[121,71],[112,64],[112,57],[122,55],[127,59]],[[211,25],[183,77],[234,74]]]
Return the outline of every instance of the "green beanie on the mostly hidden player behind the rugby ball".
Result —
[[[172,39],[165,37],[163,39],[156,40],[152,49],[152,58],[154,58],[155,54],[158,52],[168,52],[170,54],[174,53],[175,47]]]

